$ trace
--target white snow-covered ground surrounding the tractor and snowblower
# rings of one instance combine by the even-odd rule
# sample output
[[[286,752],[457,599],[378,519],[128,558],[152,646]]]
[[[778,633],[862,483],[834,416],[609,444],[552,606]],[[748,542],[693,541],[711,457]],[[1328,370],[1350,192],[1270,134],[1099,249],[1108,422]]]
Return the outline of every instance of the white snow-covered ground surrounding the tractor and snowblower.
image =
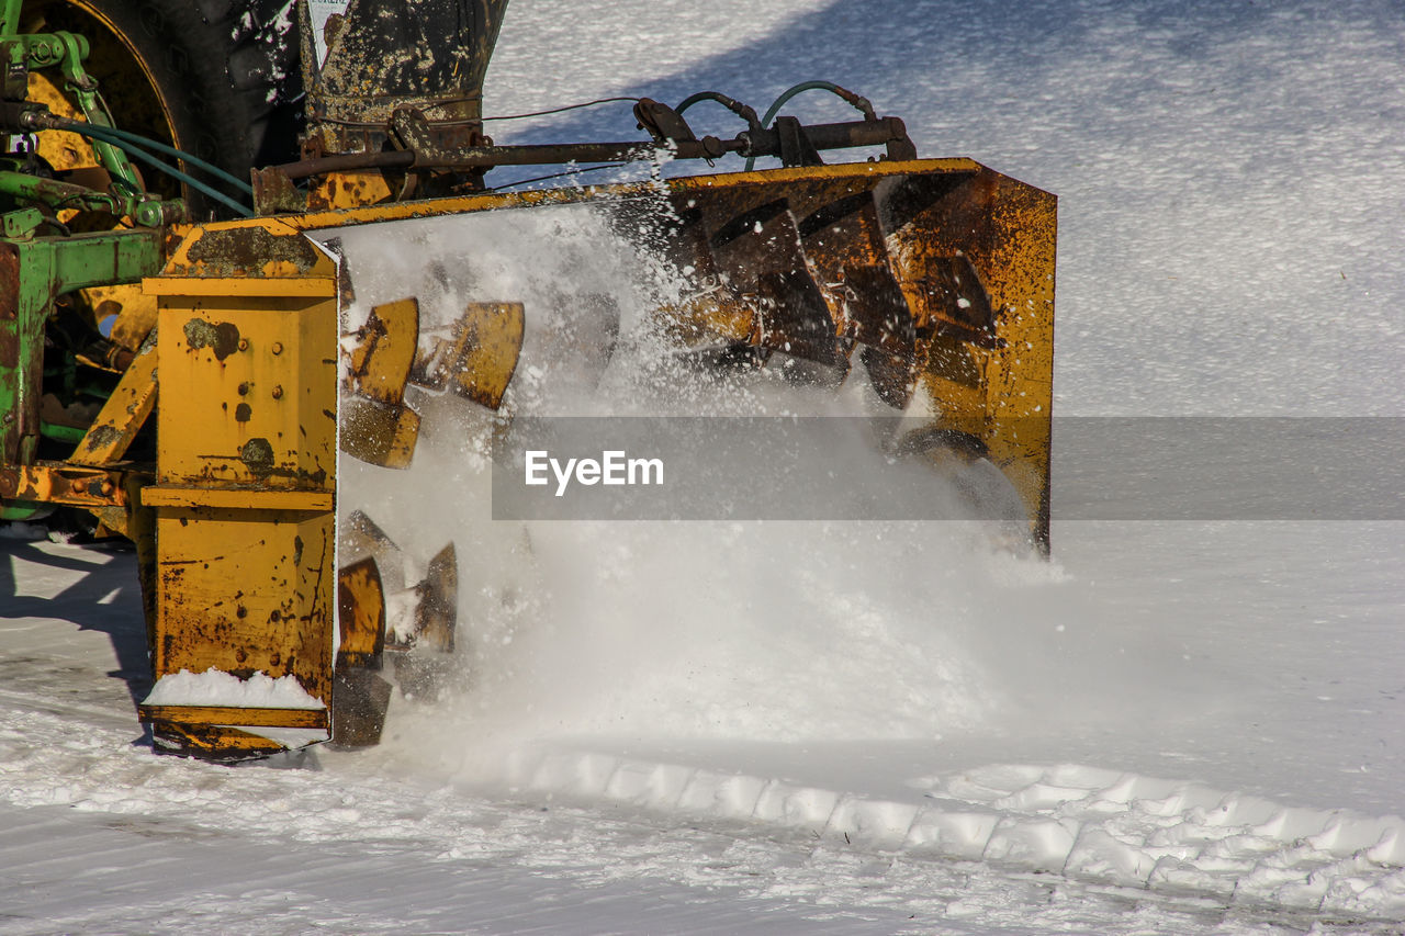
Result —
[[[1384,0],[518,0],[488,110],[836,80],[1059,195],[1057,413],[1401,416],[1402,46]],[[558,524],[524,568],[396,490],[475,682],[237,769],[142,738],[132,557],[17,530],[0,933],[1405,932],[1405,526],[1059,520],[1058,472],[1048,564]]]

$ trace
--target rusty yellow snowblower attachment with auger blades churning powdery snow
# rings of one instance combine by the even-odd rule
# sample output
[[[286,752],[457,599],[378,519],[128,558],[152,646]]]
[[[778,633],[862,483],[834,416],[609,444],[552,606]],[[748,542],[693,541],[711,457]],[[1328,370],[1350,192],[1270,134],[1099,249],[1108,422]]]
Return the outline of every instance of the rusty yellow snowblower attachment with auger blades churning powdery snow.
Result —
[[[552,242],[568,229],[573,238]],[[504,242],[535,239],[542,257],[594,247],[579,259],[587,266],[636,252],[663,268],[681,287],[646,316],[666,336],[658,354],[701,368],[799,363],[792,382],[816,395],[865,381],[895,415],[920,402],[923,431],[909,434],[999,467],[1045,547],[1054,230],[1051,195],[965,159],[192,229],[146,282],[160,304],[163,399],[159,479],[142,493],[157,528],[155,675],[292,676],[333,704],[148,704],[143,718],[170,743],[222,756],[326,736],[339,718],[343,741],[372,742],[389,696],[375,675],[382,658],[452,646],[455,569],[440,559],[419,585],[382,582],[399,573],[385,561],[393,544],[351,514],[374,505],[343,503],[337,530],[334,451],[340,438],[343,455],[409,465],[416,401],[445,392],[497,409],[500,423],[514,375],[545,353],[534,323],[596,354],[621,340],[618,309],[638,301],[627,281],[621,295],[582,291],[531,252],[489,275]],[[452,245],[450,263],[403,281],[361,277],[365,245],[413,254],[431,240]],[[402,295],[414,281],[433,295]],[[419,621],[391,625],[388,596],[407,586]]]

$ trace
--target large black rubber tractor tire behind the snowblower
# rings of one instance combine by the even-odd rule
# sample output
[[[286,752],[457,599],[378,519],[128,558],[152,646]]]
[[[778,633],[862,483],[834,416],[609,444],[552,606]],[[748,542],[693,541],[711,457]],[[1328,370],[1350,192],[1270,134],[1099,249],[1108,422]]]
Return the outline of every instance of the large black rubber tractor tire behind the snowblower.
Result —
[[[89,72],[119,128],[162,139],[247,178],[295,157],[301,72],[280,0],[45,0],[25,28],[89,38]],[[148,184],[174,194],[155,170]],[[200,173],[192,173],[200,177]],[[207,180],[208,181],[208,180]],[[195,219],[229,211],[183,193]]]

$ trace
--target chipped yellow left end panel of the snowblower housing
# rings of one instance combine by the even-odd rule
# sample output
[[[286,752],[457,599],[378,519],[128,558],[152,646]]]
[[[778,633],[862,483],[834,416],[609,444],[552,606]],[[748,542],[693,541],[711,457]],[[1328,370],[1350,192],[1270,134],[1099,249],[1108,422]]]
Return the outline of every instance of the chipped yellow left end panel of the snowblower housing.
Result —
[[[195,228],[160,277],[153,675],[292,675],[332,703],[336,264],[277,221]],[[243,724],[153,717],[205,756],[267,753]],[[273,748],[277,749],[277,743]]]

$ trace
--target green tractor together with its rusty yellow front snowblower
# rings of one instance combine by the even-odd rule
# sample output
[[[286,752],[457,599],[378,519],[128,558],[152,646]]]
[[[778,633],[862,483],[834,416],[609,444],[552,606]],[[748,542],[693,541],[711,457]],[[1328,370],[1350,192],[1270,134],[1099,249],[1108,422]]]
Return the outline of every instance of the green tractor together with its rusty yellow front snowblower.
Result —
[[[670,284],[643,309],[658,353],[821,396],[863,381],[920,416],[892,451],[1003,472],[1048,548],[1052,195],[916,159],[901,119],[835,86],[861,119],[770,122],[708,91],[638,101],[648,139],[495,145],[481,90],[504,7],[351,0],[313,22],[299,3],[298,48],[268,55],[301,55],[303,100],[254,82],[287,69],[249,69],[229,24],[191,4],[45,0],[25,20],[0,6],[0,519],[62,505],[136,542],[155,680],[139,714],[159,749],[370,745],[386,676],[433,694],[464,642],[472,559],[448,544],[416,566],[377,503],[348,502],[347,460],[413,465],[438,431],[434,401],[476,408],[492,433],[548,360],[572,361],[589,395],[632,340],[642,275]],[[207,60],[225,45],[228,62]],[[117,128],[98,80],[143,136]],[[702,98],[746,129],[694,134],[683,112]],[[260,122],[260,162],[275,164],[254,169],[242,134],[259,101],[298,100],[296,146]],[[846,148],[873,156],[823,163]],[[781,167],[483,188],[506,166],[732,153]],[[129,159],[170,180],[148,188]],[[414,243],[454,250],[375,273]],[[502,261],[502,245],[530,249]],[[594,275],[558,275],[572,268]]]

